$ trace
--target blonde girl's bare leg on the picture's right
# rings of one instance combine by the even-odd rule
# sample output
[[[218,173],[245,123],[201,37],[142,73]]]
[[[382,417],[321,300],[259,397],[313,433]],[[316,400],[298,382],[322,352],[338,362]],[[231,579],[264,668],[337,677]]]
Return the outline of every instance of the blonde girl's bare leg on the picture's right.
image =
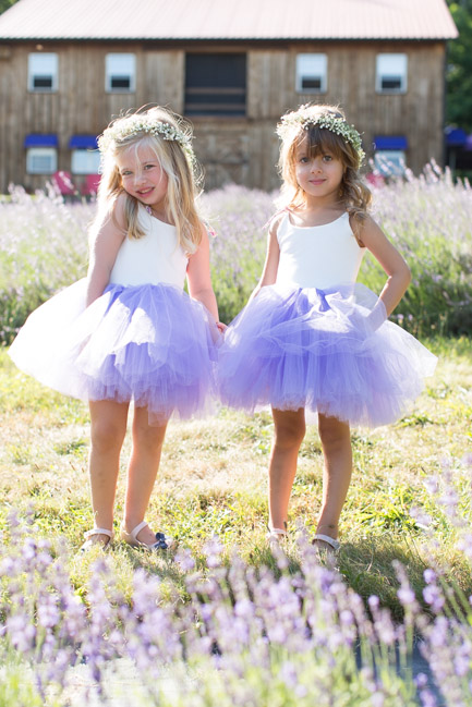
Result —
[[[145,516],[159,468],[160,454],[167,422],[150,426],[147,407],[135,407],[133,419],[133,447],[128,466],[126,496],[124,502],[124,529],[130,533]],[[156,540],[150,528],[144,527],[137,539],[142,543]]]

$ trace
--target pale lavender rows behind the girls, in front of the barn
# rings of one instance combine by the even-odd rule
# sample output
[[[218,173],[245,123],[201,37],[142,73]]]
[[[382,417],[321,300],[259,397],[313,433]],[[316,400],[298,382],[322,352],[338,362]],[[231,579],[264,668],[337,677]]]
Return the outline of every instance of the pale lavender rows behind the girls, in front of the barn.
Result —
[[[202,197],[216,232],[211,267],[221,320],[244,306],[264,263],[274,197],[228,186]],[[50,191],[20,187],[0,202],[0,343],[8,343],[27,314],[86,272],[86,229],[94,204],[64,204]],[[472,328],[472,190],[453,184],[434,164],[375,190],[374,216],[412,270],[412,283],[392,316],[412,333],[461,334]],[[365,258],[361,281],[376,292],[384,273]]]

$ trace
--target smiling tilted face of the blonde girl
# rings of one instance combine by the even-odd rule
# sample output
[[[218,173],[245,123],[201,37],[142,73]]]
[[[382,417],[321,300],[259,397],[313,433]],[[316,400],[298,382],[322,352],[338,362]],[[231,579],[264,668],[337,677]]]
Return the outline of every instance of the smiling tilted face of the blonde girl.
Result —
[[[124,191],[156,216],[165,216],[169,179],[148,146],[131,146],[117,157],[117,164]]]

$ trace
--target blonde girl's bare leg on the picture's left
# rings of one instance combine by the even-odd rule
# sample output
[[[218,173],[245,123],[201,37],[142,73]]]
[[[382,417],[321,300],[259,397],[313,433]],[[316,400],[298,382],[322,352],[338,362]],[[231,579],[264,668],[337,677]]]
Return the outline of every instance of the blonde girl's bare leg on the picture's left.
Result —
[[[90,453],[88,470],[92,488],[92,508],[95,527],[113,528],[113,507],[117,492],[120,452],[126,434],[128,403],[99,400],[89,403]],[[96,543],[107,543],[108,537],[97,535]]]

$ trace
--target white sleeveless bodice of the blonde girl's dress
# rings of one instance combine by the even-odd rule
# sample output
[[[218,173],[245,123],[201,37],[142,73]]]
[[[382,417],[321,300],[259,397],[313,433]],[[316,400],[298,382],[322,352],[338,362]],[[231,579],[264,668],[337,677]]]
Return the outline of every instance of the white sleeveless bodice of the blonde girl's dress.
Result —
[[[145,235],[125,237],[118,251],[110,283],[124,285],[173,284],[183,288],[189,259],[178,245],[174,225],[159,221],[140,208]]]

